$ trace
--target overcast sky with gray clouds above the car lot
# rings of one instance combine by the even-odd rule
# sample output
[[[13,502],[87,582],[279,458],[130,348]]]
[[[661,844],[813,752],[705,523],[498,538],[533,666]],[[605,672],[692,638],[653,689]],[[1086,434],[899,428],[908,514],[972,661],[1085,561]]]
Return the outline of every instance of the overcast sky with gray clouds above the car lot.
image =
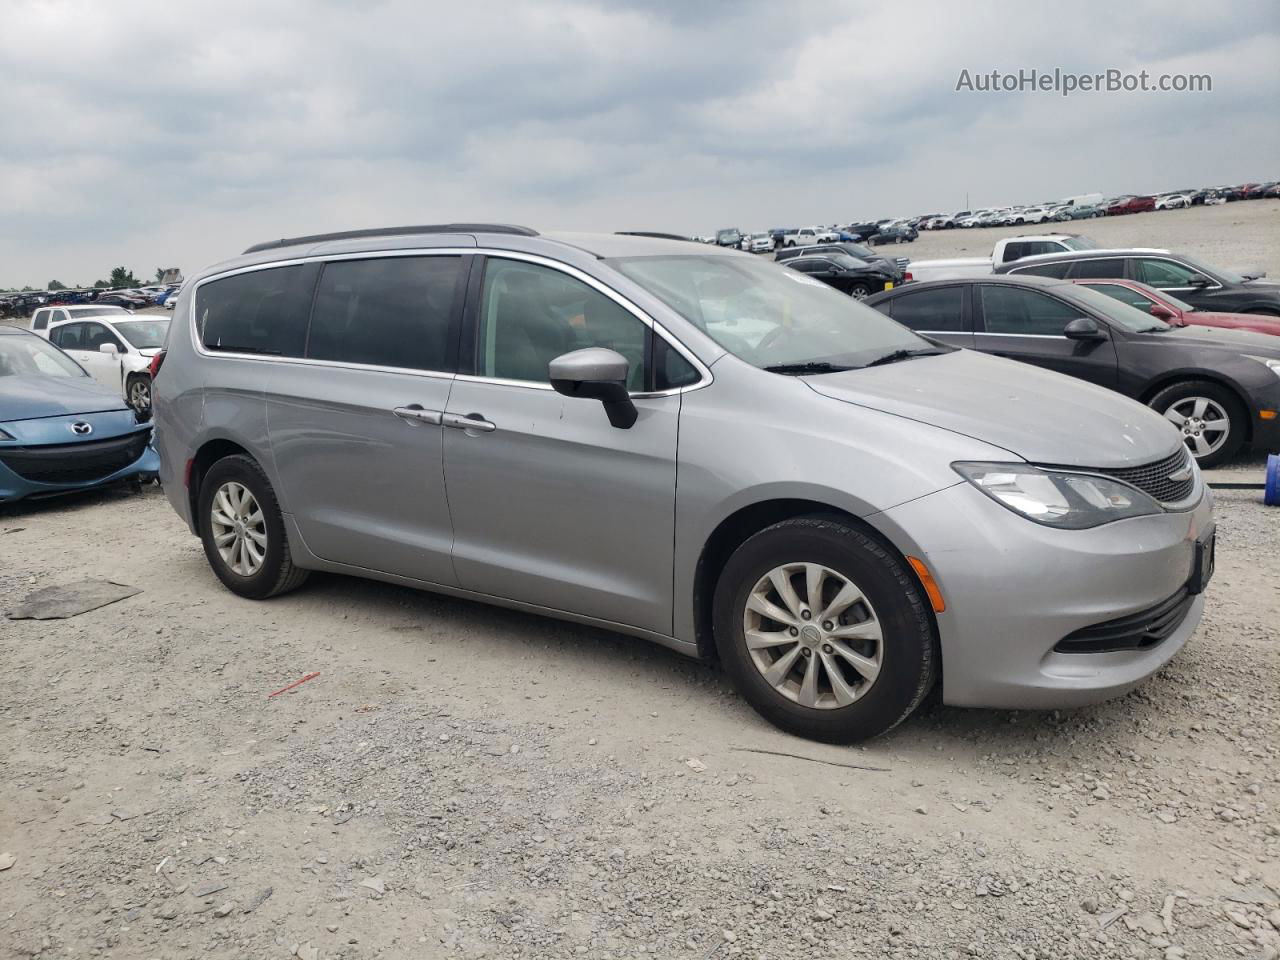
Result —
[[[0,0],[0,288],[379,224],[708,233],[1280,177],[1274,0]],[[956,92],[1020,68],[1212,92]]]

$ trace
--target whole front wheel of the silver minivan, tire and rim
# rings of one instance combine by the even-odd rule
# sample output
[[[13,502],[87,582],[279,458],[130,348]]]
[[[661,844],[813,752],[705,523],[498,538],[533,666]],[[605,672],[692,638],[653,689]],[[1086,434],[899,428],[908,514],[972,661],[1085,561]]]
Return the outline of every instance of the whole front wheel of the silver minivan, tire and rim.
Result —
[[[915,579],[835,517],[774,524],[724,564],[716,646],[735,687],[771,723],[849,744],[906,719],[938,654]]]

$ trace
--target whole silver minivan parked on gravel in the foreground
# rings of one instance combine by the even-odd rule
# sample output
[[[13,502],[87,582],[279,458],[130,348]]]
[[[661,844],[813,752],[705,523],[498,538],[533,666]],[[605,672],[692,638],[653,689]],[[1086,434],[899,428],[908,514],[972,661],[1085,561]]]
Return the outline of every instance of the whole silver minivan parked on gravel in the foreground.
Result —
[[[1194,632],[1210,493],[1144,406],[748,253],[494,224],[278,241],[183,287],[169,499],[311,570],[718,659],[777,726],[1121,694]]]

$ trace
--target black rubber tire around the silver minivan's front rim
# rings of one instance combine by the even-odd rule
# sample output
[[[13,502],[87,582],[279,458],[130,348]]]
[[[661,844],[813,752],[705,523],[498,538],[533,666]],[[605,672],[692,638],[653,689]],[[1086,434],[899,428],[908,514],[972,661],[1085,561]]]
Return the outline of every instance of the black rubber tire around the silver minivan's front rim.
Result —
[[[783,563],[820,563],[856,584],[881,623],[881,669],[846,707],[804,707],[774,690],[746,648],[744,611],[756,582]],[[924,699],[938,671],[938,643],[924,596],[906,564],[879,540],[837,517],[806,516],[765,527],[737,548],[716,585],[716,648],[742,698],[777,727],[812,740],[851,744],[884,733]]]

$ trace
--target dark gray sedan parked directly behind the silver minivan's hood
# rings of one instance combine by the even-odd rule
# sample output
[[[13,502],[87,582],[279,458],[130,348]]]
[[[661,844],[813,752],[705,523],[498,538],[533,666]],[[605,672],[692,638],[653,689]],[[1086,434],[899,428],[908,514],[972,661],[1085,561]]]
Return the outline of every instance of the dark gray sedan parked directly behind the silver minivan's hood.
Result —
[[[1245,330],[1170,326],[1097,291],[1027,275],[913,283],[869,306],[957,347],[1108,387],[1161,412],[1203,467],[1245,443],[1280,451],[1280,346]]]

